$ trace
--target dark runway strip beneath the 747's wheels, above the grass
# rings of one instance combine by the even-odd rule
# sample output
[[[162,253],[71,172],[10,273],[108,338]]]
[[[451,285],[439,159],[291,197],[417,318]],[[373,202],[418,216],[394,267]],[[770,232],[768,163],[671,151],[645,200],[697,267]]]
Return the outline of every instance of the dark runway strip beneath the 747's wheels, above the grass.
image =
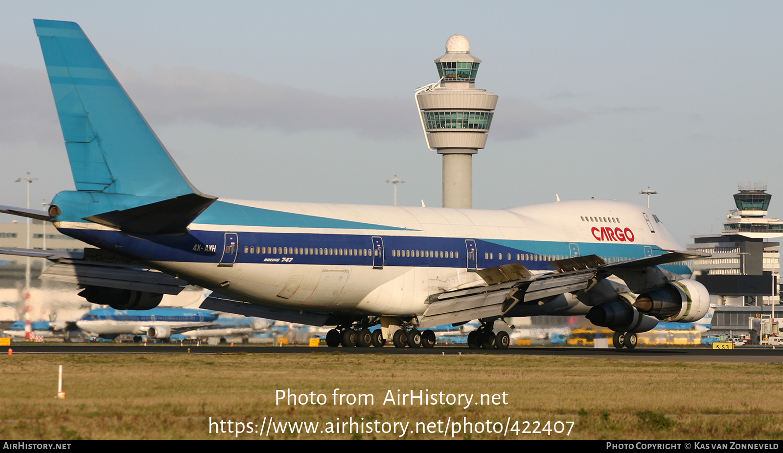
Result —
[[[3,347],[5,349],[5,347]],[[560,357],[593,357],[633,360],[664,361],[738,361],[759,363],[783,362],[783,348],[738,347],[734,350],[715,350],[708,347],[653,347],[637,349],[597,349],[591,347],[511,347],[507,350],[469,349],[467,347],[307,347],[307,346],[196,346],[185,344],[88,344],[58,343],[30,344],[13,343],[9,349],[13,354],[400,354],[400,355],[456,355],[456,354],[498,354],[498,355],[550,355]],[[5,351],[0,349],[3,354]]]

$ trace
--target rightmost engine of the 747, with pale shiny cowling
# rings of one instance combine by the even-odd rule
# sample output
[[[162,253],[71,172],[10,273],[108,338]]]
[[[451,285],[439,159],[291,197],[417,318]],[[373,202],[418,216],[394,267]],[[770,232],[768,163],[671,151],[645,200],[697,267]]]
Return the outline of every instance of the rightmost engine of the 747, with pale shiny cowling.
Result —
[[[695,322],[709,310],[709,292],[695,280],[677,280],[641,294],[633,307],[665,322]]]

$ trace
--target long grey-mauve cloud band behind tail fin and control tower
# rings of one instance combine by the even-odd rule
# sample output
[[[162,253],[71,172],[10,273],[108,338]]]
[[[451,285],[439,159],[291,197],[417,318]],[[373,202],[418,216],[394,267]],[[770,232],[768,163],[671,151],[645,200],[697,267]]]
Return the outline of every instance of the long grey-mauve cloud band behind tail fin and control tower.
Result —
[[[155,67],[149,73],[114,64],[114,74],[153,127],[207,123],[297,133],[351,130],[363,138],[415,138],[420,132],[413,99],[341,96],[265,84],[218,71]],[[38,136],[61,140],[43,70],[0,64],[0,140]],[[500,96],[490,135],[530,138],[548,128],[583,120],[576,110],[547,110]]]

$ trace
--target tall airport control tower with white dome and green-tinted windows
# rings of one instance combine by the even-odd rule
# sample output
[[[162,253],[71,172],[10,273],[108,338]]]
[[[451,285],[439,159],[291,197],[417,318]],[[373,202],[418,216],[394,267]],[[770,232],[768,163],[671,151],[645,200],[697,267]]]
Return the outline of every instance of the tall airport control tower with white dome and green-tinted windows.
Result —
[[[443,155],[443,207],[473,206],[473,155],[484,148],[497,95],[476,88],[482,60],[461,34],[435,59],[440,80],[416,91],[427,147]]]

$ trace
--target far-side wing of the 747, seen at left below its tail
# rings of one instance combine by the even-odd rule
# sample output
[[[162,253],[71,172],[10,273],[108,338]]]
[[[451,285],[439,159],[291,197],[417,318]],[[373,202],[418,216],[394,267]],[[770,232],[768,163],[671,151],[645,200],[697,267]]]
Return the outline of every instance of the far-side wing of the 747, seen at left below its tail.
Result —
[[[188,284],[185,280],[98,249],[87,248],[82,253],[0,248],[0,253],[52,261],[54,264],[38,277],[44,280],[162,294],[179,294]]]

